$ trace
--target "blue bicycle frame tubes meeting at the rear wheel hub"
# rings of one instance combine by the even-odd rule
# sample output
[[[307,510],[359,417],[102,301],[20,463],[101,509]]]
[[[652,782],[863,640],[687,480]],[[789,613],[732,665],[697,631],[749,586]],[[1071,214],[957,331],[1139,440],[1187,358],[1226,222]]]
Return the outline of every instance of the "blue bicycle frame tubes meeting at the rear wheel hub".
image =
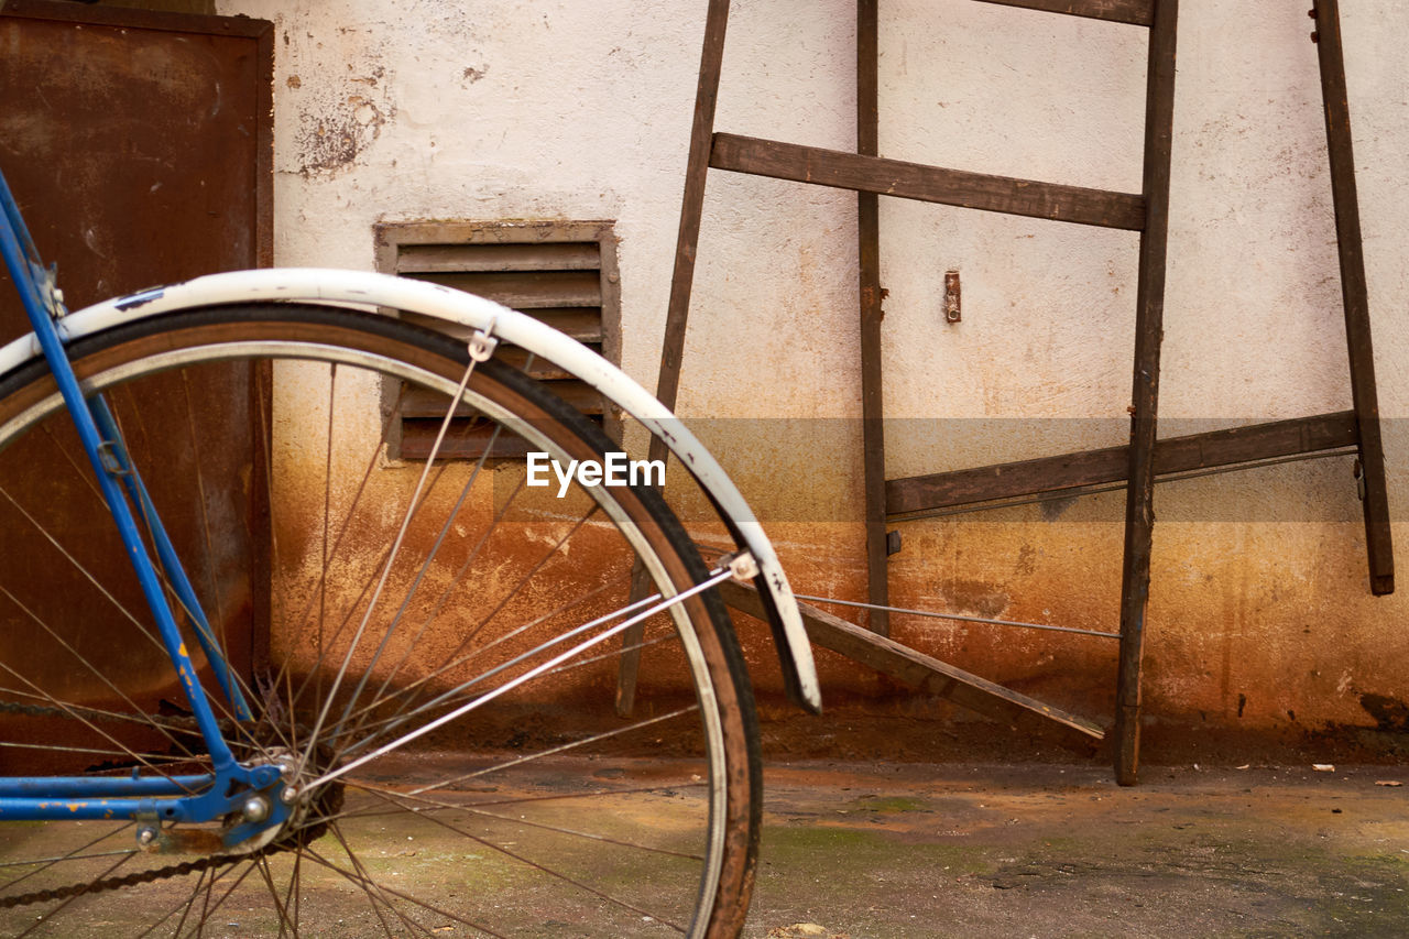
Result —
[[[45,268],[34,247],[20,207],[0,173],[0,254],[24,303],[25,314],[48,361],[63,403],[77,429],[83,451],[97,478],[103,499],[117,524],[147,605],[156,620],[166,654],[180,678],[196,725],[210,754],[213,771],[200,775],[131,777],[0,777],[0,821],[111,819],[151,822],[209,822],[248,812],[254,797],[265,806],[256,822],[228,828],[223,839],[232,847],[261,829],[282,823],[287,805],[282,795],[280,768],[241,766],[221,735],[206,688],[186,650],[186,642],[166,589],[186,615],[196,642],[214,670],[221,694],[235,720],[251,720],[248,702],[220,650],[196,592],[182,568],[141,475],[128,458],[117,422],[101,395],[85,395],[68,360],[58,321],[66,314],[55,283],[55,268]],[[142,526],[138,526],[141,519]],[[148,541],[142,537],[147,530]],[[152,554],[155,553],[155,561]],[[163,585],[165,578],[165,585]]]

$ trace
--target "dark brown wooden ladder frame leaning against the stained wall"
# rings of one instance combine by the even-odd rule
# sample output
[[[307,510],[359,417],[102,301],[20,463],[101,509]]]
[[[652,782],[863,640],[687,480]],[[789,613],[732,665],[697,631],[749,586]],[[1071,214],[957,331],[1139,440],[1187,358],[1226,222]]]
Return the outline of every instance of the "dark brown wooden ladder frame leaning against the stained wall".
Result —
[[[1350,352],[1354,409],[1334,415],[1210,431],[1157,440],[1160,392],[1160,343],[1162,336],[1165,248],[1169,209],[1169,158],[1174,124],[1174,76],[1178,0],[976,0],[1053,14],[1105,20],[1146,27],[1150,34],[1146,82],[1144,171],[1140,193],[1106,192],[1047,182],[991,176],[886,159],[878,149],[878,0],[857,3],[857,152],[802,147],[779,141],[714,131],[728,0],[710,0],[700,56],[699,89],[681,207],[675,271],[661,350],[657,396],[674,407],[689,314],[695,255],[699,244],[704,183],[709,169],[726,169],[793,182],[855,190],[859,254],[861,407],[865,479],[868,601],[888,606],[886,522],[892,516],[923,513],[960,505],[986,503],[1054,491],[1075,491],[1096,484],[1126,484],[1124,550],[1120,595],[1120,656],[1116,677],[1115,770],[1123,785],[1137,781],[1140,753],[1140,674],[1146,608],[1150,595],[1150,551],[1154,524],[1154,484],[1172,472],[1254,464],[1260,460],[1309,455],[1354,447],[1360,457],[1370,584],[1374,594],[1394,589],[1394,557],[1385,493],[1384,455],[1379,443],[1374,361],[1365,299],[1365,275],[1355,203],[1350,116],[1346,104],[1336,0],[1315,0],[1312,16],[1319,25],[1319,62],[1326,100],[1336,231]],[[1315,37],[1313,37],[1315,38]],[[1130,444],[1067,454],[1017,464],[981,467],[905,479],[885,478],[881,375],[881,250],[878,196],[982,209],[1036,219],[1050,219],[1140,233],[1138,285],[1136,292],[1136,345],[1130,406]],[[659,440],[651,458],[665,460]],[[727,595],[748,612],[737,591]],[[958,704],[991,716],[1020,709],[1041,713],[1089,736],[1100,736],[1091,722],[1065,715],[1016,692],[985,682],[952,667],[934,663],[890,642],[886,610],[871,610],[874,637],[869,651],[864,630],[840,630],[836,618],[805,610],[809,633],[820,642],[902,681],[930,691],[962,688],[950,694]],[[833,622],[836,620],[836,622]],[[844,634],[843,634],[844,633]],[[630,711],[635,689],[638,653],[621,663],[619,706]],[[899,647],[899,649],[896,649]],[[910,654],[906,656],[905,653]],[[936,681],[917,680],[929,668]],[[898,664],[903,663],[903,664]],[[933,665],[943,665],[934,668]],[[957,675],[955,675],[957,673]]]

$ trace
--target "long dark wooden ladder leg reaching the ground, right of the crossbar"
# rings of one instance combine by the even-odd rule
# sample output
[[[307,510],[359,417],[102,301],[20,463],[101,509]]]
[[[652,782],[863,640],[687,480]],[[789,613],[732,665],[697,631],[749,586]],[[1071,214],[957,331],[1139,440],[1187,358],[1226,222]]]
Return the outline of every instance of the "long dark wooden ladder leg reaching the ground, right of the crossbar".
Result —
[[[1136,354],[1130,392],[1130,471],[1126,477],[1124,556],[1120,565],[1120,664],[1116,674],[1116,782],[1140,773],[1140,680],[1150,602],[1154,534],[1154,443],[1160,400],[1160,341],[1169,223],[1169,154],[1174,137],[1175,27],[1178,0],[1158,0],[1146,69],[1144,195],[1140,275],[1136,288]]]

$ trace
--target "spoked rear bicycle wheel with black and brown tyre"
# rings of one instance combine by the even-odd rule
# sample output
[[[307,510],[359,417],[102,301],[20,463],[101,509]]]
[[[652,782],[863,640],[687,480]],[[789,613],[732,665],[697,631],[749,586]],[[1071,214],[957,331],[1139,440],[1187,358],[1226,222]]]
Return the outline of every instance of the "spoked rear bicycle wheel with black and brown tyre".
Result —
[[[125,819],[0,823],[0,931],[737,935],[759,766],[714,591],[647,620],[638,713],[613,709],[620,625],[709,568],[654,489],[559,493],[492,455],[600,461],[597,426],[490,360],[438,399],[468,416],[433,422],[435,455],[489,455],[399,458],[407,403],[457,393],[466,348],[348,309],[182,312],[70,355],[255,715],[231,719],[183,623],[225,737],[299,767],[299,805],[240,856],[200,830],[144,849]],[[42,365],[0,379],[6,775],[209,771],[113,529]],[[633,606],[634,565],[657,601]]]

